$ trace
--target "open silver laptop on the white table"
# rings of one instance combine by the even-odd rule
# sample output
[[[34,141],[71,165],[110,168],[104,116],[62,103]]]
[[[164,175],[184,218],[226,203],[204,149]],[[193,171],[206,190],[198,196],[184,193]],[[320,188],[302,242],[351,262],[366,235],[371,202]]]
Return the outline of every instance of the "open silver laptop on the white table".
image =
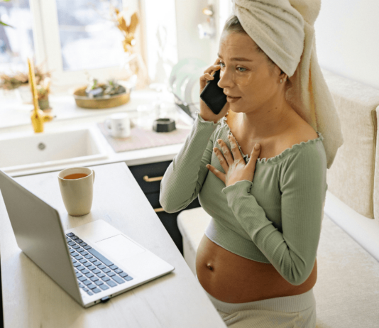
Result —
[[[63,231],[55,208],[1,170],[0,190],[18,247],[83,307],[175,269],[103,220]]]

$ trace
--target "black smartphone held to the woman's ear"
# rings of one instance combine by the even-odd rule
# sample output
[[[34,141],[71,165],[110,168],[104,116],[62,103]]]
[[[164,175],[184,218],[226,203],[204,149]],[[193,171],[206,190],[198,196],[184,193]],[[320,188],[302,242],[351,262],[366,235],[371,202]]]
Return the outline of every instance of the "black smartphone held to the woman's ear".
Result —
[[[220,70],[216,70],[213,76],[214,79],[207,82],[200,94],[200,98],[214,114],[219,114],[226,104],[226,94],[224,94],[224,89],[217,85],[220,80]]]

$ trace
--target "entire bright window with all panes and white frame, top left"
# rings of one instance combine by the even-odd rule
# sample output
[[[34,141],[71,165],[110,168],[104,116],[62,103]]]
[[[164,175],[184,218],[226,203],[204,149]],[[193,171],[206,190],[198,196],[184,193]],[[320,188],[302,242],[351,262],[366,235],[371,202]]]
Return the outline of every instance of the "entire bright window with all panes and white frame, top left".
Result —
[[[175,0],[1,2],[1,18],[16,28],[0,26],[6,36],[0,38],[0,71],[6,66],[27,72],[27,58],[34,55],[36,65],[45,62],[57,87],[86,84],[87,73],[103,81],[126,78],[123,35],[111,21],[110,5],[138,13],[137,51],[151,82],[167,82],[177,62]]]

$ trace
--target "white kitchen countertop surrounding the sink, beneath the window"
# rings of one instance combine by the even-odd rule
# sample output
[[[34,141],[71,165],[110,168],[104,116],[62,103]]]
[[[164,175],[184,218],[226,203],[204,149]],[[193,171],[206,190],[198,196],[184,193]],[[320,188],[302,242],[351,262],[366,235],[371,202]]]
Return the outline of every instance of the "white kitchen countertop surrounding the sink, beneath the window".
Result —
[[[4,100],[5,99],[5,100]],[[117,106],[110,109],[82,109],[75,104],[75,99],[70,94],[57,94],[50,95],[49,102],[53,111],[50,114],[55,115],[55,119],[44,125],[44,132],[49,131],[65,131],[65,129],[82,129],[95,127],[97,131],[97,123],[103,122],[110,114],[116,112],[128,112],[133,124],[137,123],[138,119],[138,105],[141,104],[153,104],[158,100],[158,92],[150,89],[133,90],[131,92],[131,99],[128,103]],[[33,136],[35,133],[31,125],[31,110],[33,105],[21,104],[18,99],[10,97],[2,97],[0,105],[0,139],[12,138],[17,136]],[[152,115],[153,111],[151,112]],[[165,114],[167,113],[167,114]],[[185,114],[179,107],[177,107],[173,99],[165,97],[163,99],[163,116],[172,117],[173,119],[181,118],[191,122],[191,119]],[[180,126],[185,127],[185,126]],[[187,127],[187,129],[189,129]],[[76,166],[89,166],[99,165],[106,163],[126,162],[126,165],[141,165],[147,163],[157,163],[165,160],[172,160],[175,155],[182,148],[183,143],[177,143],[168,146],[160,146],[153,148],[139,149],[136,151],[126,151],[122,153],[116,153],[111,145],[106,141],[101,131],[101,143],[108,154],[108,158],[104,160],[83,161],[81,163],[75,163]],[[48,168],[36,168],[33,170],[22,170],[15,173],[8,173],[9,175],[16,177],[21,175],[31,175],[43,172],[52,172],[55,170],[62,170],[67,168],[67,165],[55,165]]]

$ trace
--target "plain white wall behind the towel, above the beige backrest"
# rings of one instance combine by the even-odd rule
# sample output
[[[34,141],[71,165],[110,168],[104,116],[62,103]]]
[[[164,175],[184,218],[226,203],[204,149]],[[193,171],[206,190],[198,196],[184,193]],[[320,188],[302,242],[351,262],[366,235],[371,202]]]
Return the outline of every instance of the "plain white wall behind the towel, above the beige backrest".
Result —
[[[314,29],[321,67],[379,89],[378,0],[322,0]]]

